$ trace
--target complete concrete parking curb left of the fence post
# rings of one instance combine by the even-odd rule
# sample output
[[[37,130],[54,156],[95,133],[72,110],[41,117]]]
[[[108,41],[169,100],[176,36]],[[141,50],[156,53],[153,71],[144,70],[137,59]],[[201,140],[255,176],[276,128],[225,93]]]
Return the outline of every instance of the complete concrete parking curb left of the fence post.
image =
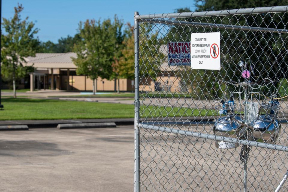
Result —
[[[116,127],[114,122],[110,123],[66,123],[58,124],[58,129],[81,129],[81,128],[108,128]]]

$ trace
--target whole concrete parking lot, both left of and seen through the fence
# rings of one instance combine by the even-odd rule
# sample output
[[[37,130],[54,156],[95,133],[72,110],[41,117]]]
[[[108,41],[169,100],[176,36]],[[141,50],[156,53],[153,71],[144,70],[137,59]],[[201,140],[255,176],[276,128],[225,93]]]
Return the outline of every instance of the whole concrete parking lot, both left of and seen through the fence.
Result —
[[[212,134],[209,126],[177,128]],[[144,129],[140,137],[143,191],[242,191],[241,147],[222,150],[211,140]],[[2,131],[0,138],[0,192],[133,191],[133,125]],[[283,134],[278,144],[286,140]],[[286,164],[285,152],[253,147],[249,191],[273,191]]]

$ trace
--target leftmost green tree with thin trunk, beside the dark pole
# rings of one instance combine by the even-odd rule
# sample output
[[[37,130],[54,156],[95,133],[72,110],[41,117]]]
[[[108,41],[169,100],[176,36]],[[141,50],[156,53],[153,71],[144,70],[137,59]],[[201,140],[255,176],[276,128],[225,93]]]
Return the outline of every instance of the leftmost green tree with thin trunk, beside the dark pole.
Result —
[[[14,7],[15,14],[11,19],[3,18],[3,28],[6,35],[1,35],[1,61],[2,75],[13,81],[13,97],[16,98],[16,83],[24,77],[33,67],[25,67],[25,57],[35,56],[38,39],[34,35],[38,29],[34,23],[28,21],[28,17],[21,19],[22,4]]]

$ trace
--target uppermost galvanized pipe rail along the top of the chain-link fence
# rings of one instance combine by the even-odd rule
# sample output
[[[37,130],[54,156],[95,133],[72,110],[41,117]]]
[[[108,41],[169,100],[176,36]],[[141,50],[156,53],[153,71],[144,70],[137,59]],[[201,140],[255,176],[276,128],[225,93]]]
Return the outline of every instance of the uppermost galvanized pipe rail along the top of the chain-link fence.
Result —
[[[175,18],[175,17],[224,16],[224,15],[244,15],[244,14],[256,14],[256,13],[277,13],[277,12],[288,12],[288,5],[274,6],[274,7],[241,8],[241,9],[219,10],[219,11],[136,15],[135,19],[142,20],[142,19]]]

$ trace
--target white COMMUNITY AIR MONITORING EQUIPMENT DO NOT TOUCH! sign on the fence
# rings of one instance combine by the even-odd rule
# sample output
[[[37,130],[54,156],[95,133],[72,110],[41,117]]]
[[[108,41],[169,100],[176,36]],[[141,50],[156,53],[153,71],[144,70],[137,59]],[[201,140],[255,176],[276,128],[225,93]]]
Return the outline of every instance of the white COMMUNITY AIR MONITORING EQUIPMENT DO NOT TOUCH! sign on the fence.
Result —
[[[220,32],[191,34],[192,69],[220,70]]]

